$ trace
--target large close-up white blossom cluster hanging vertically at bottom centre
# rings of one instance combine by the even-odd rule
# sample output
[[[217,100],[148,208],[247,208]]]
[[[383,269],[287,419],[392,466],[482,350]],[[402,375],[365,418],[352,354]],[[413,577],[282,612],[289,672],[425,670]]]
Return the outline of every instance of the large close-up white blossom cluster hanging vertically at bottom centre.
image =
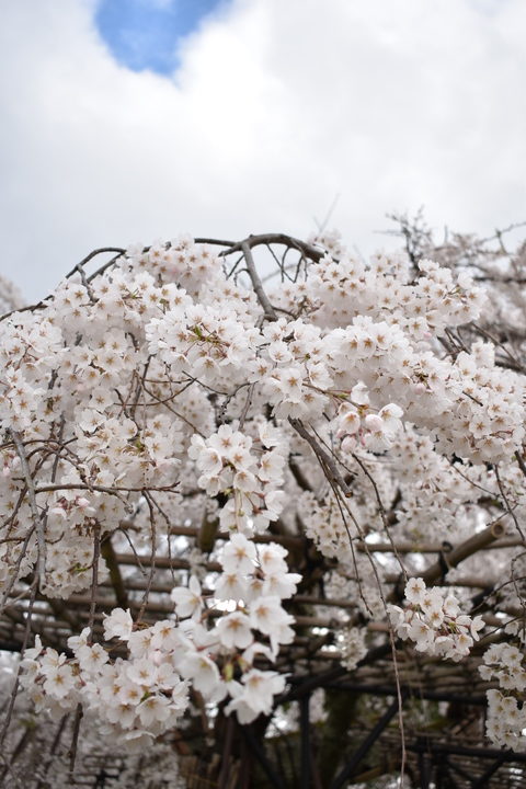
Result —
[[[185,636],[182,676],[209,701],[229,697],[225,711],[235,711],[241,723],[270,713],[274,696],[285,687],[283,675],[262,671],[254,661],[274,661],[279,645],[294,639],[294,617],[282,601],[294,595],[301,576],[288,572],[286,553],[277,544],[256,547],[233,534],[213,594],[206,595],[195,576],[188,587],[172,591]]]

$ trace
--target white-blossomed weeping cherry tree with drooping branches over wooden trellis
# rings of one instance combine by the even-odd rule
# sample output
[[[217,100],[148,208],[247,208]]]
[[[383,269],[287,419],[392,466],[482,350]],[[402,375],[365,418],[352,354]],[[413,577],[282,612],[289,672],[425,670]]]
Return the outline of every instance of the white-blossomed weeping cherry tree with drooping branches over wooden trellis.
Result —
[[[525,779],[526,248],[397,221],[0,283],[4,782]]]

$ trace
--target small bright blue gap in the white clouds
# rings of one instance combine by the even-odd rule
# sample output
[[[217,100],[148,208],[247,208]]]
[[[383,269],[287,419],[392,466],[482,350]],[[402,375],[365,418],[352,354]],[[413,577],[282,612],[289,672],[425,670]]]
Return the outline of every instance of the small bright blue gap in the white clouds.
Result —
[[[225,0],[102,0],[95,24],[118,62],[133,71],[171,75],[179,42]]]

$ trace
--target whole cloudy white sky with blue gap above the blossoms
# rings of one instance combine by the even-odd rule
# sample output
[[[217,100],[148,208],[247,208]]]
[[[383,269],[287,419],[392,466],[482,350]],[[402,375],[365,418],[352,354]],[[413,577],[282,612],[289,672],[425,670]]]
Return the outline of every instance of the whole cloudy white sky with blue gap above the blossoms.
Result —
[[[0,0],[0,274],[181,232],[526,219],[524,0]],[[329,216],[328,216],[329,215]],[[392,242],[391,242],[392,243]]]

